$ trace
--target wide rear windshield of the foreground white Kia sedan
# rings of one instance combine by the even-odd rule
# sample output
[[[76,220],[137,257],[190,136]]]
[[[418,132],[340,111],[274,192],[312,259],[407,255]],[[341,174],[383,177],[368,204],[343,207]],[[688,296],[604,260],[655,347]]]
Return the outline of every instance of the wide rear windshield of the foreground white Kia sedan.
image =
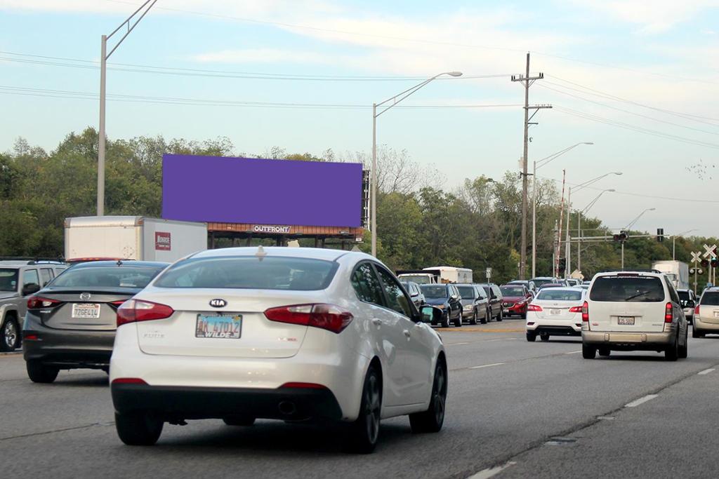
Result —
[[[190,258],[170,266],[153,286],[313,291],[329,286],[337,266],[334,261],[283,256]]]

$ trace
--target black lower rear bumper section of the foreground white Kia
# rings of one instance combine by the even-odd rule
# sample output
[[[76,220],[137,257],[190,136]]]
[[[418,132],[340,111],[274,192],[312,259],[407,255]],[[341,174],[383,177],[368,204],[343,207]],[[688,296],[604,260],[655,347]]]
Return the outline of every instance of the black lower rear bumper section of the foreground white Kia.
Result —
[[[165,421],[233,417],[342,419],[337,399],[326,388],[190,388],[112,383],[110,390],[117,412],[152,411]]]

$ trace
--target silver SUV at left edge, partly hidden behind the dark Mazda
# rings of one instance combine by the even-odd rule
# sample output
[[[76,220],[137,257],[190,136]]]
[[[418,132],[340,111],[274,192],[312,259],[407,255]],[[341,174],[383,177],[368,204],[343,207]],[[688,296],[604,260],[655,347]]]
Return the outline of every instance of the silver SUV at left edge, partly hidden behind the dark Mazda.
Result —
[[[0,260],[0,351],[19,348],[25,297],[44,287],[67,266],[60,261]]]

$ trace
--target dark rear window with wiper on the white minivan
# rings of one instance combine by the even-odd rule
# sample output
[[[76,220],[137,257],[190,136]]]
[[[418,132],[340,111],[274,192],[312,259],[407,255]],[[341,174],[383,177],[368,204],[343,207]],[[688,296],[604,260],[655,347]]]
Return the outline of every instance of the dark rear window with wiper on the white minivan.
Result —
[[[659,302],[664,287],[656,276],[599,276],[590,291],[592,301]]]

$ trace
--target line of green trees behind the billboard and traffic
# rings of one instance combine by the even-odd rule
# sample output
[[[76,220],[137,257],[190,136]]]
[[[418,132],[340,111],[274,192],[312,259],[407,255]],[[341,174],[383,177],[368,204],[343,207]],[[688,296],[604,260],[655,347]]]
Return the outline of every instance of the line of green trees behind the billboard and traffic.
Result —
[[[97,131],[88,128],[68,134],[51,152],[32,147],[21,138],[11,150],[0,154],[0,256],[63,253],[65,218],[96,212],[97,144]],[[108,140],[106,214],[160,216],[164,153],[362,162],[370,166],[364,152],[338,154],[331,149],[319,157],[288,153],[278,147],[247,155],[237,152],[232,141],[224,137],[206,141],[166,140],[162,136]],[[521,180],[516,172],[505,172],[500,178],[466,178],[459,186],[449,188],[439,171],[414,162],[404,150],[381,146],[377,158],[380,260],[393,269],[464,266],[475,271],[475,281],[484,281],[485,269],[490,267],[493,282],[516,279],[521,244]],[[539,180],[537,188],[536,269],[538,275],[549,276],[560,195],[551,180]],[[531,220],[529,224],[531,231]],[[570,228],[576,224],[576,213],[572,212]],[[613,233],[598,218],[584,217],[582,231],[585,236]],[[703,251],[703,243],[717,242],[717,238],[677,238],[677,259],[688,262],[690,251]],[[368,233],[359,247],[369,251]],[[576,251],[574,243],[574,266]],[[531,261],[531,251],[527,256]],[[654,238],[633,238],[625,244],[626,266],[649,268],[651,261],[659,259],[672,259],[671,240],[659,243]],[[619,266],[618,243],[582,245],[585,276]],[[705,282],[700,281],[700,286]]]

